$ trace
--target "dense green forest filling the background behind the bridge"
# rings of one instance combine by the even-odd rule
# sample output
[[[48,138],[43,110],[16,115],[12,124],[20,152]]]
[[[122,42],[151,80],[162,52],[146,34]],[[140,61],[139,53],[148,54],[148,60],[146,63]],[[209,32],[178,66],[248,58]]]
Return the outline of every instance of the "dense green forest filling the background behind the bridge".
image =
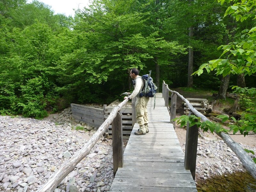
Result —
[[[214,89],[222,99],[230,85],[255,87],[255,37],[247,42],[254,46],[249,72],[216,72],[208,63],[231,49],[220,45],[238,45],[256,26],[247,19],[255,17],[255,2],[247,1],[245,16],[239,6],[227,14],[232,2],[238,1],[94,0],[72,18],[39,1],[1,0],[0,113],[42,118],[71,102],[108,104],[131,89],[133,67],[152,70],[158,87],[164,80],[170,88]],[[195,71],[200,76],[191,76]]]

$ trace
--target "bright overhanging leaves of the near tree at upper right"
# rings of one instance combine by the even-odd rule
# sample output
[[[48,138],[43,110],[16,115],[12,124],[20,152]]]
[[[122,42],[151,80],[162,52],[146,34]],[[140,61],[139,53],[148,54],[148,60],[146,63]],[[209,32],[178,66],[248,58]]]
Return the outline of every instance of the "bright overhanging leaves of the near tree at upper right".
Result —
[[[218,0],[222,4],[225,0]],[[230,0],[227,0],[230,2]],[[229,6],[226,10],[226,15],[231,15],[236,18],[236,21],[243,22],[248,18],[254,17],[255,13],[254,0],[242,1],[241,3],[234,0],[234,4]],[[255,23],[254,23],[255,24]],[[226,76],[232,74],[244,74],[252,75],[256,72],[256,27],[245,29],[242,31],[242,35],[239,41],[231,42],[227,45],[221,45],[218,49],[223,50],[220,58],[217,60],[210,60],[199,67],[199,69],[193,73],[198,76],[203,73],[205,69],[208,73],[210,71],[216,71],[216,75]],[[224,56],[224,59],[221,57]]]

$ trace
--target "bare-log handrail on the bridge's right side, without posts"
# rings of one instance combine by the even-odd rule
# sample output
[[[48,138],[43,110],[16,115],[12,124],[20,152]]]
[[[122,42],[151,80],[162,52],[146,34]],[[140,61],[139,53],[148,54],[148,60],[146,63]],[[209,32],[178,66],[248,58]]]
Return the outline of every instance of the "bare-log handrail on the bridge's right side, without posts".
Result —
[[[176,91],[172,91],[168,88],[167,89],[177,94],[183,101],[186,102],[188,108],[191,112],[193,112],[196,116],[200,117],[202,121],[209,121],[209,119],[206,118],[206,116],[202,115],[200,112],[198,112],[193,106],[188,102],[187,99],[185,99],[180,93]],[[244,149],[236,143],[228,134],[223,132],[215,132],[227,145],[228,147],[236,154],[236,156],[240,159],[240,161],[243,164],[243,167],[252,175],[254,179],[256,179],[256,164],[253,162],[251,156],[249,156],[248,153],[244,151]]]

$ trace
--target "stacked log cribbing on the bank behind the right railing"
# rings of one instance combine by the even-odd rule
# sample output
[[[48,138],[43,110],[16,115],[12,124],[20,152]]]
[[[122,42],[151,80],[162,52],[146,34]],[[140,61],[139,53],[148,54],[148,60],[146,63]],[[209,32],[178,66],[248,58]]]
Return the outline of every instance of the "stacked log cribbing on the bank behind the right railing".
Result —
[[[209,104],[207,99],[201,98],[186,98],[189,103],[204,116],[218,116],[220,113],[212,111],[213,106]],[[184,114],[188,115],[189,108],[186,103],[183,103]]]

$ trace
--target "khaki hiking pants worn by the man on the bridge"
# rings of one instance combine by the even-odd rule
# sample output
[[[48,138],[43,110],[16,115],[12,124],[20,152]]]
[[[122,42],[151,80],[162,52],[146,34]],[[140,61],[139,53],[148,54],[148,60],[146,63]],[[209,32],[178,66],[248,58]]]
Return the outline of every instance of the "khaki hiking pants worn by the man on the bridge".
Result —
[[[148,100],[149,97],[140,97],[135,102],[136,120],[140,126],[140,131],[143,133],[148,130]]]

